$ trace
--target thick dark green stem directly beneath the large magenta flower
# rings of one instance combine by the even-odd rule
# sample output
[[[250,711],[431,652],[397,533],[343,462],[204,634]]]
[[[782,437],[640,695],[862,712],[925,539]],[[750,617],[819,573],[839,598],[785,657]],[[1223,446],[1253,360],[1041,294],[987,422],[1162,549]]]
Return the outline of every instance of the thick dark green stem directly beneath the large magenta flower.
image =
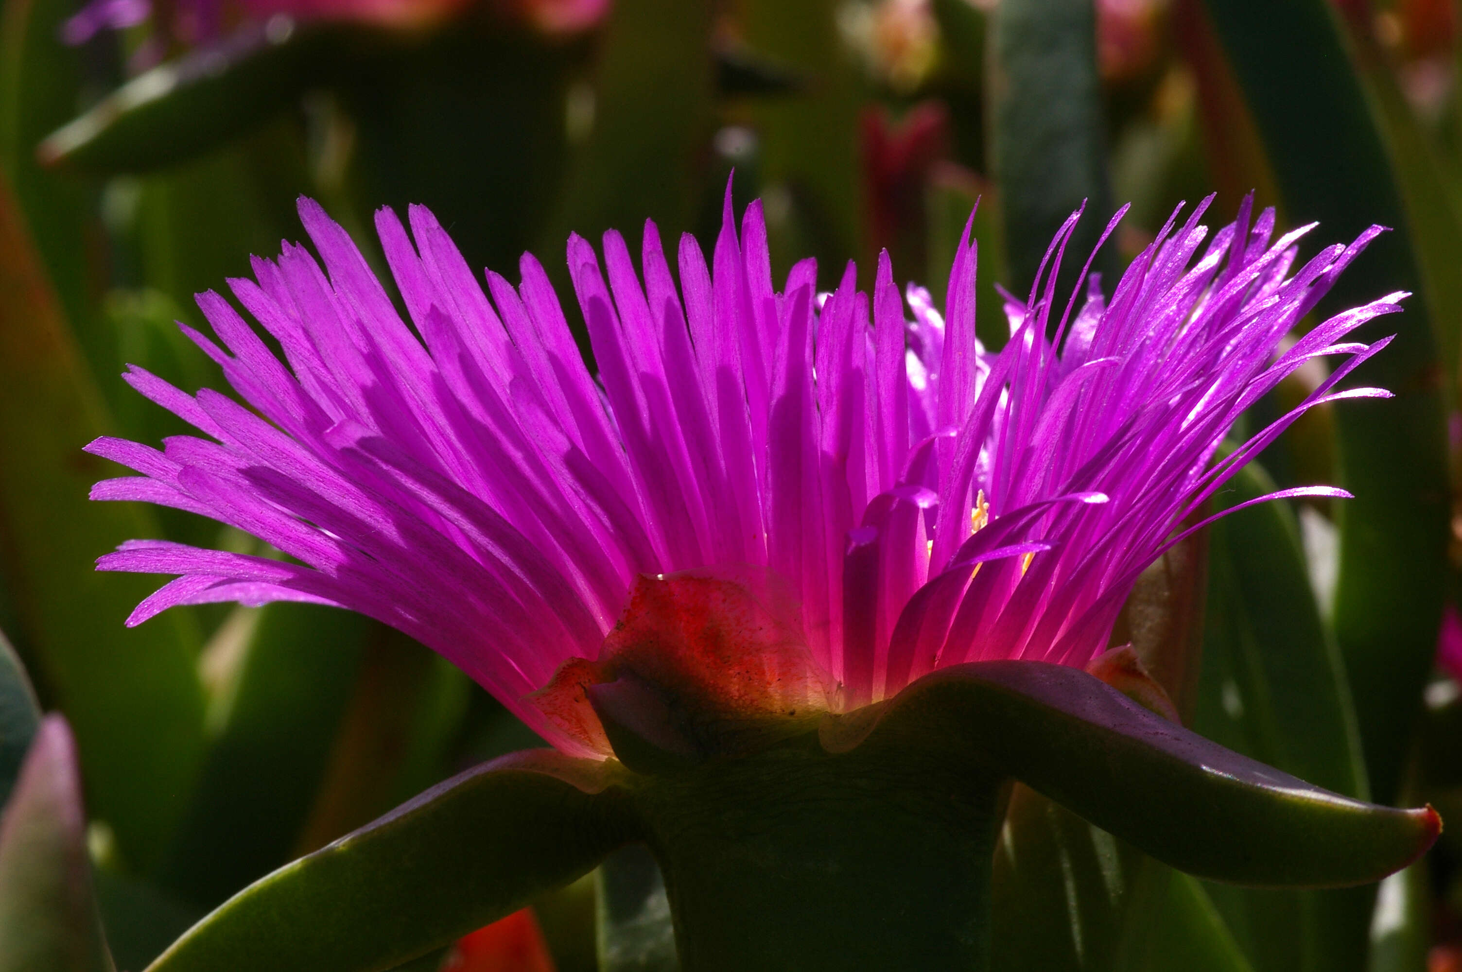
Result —
[[[866,748],[803,737],[642,792],[684,972],[988,969],[999,778]]]

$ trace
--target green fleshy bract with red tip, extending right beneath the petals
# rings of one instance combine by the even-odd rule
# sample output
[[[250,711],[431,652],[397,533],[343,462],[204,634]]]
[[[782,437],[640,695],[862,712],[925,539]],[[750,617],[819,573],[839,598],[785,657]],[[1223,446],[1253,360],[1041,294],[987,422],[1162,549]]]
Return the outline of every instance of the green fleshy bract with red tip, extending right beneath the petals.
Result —
[[[1360,802],[1225,750],[1063,665],[955,665],[882,713],[825,729],[835,750],[914,738],[993,764],[1159,861],[1222,881],[1374,881],[1420,857],[1442,826],[1430,807]]]

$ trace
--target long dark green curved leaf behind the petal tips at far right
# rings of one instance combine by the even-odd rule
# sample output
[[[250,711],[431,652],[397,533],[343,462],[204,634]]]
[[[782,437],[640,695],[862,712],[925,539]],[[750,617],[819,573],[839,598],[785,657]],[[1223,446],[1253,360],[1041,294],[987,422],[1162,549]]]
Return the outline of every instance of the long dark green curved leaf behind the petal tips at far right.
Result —
[[[1341,472],[1355,494],[1339,507],[1335,633],[1349,674],[1376,800],[1395,798],[1402,757],[1436,649],[1447,576],[1447,472],[1430,305],[1380,129],[1325,0],[1208,0],[1249,99],[1292,222],[1319,219],[1376,240],[1330,289],[1320,314],[1406,289],[1406,319],[1374,322],[1355,341],[1398,330],[1352,381],[1390,389],[1383,406],[1335,406]],[[1295,111],[1304,105],[1304,111]],[[1420,292],[1418,292],[1420,291]]]

